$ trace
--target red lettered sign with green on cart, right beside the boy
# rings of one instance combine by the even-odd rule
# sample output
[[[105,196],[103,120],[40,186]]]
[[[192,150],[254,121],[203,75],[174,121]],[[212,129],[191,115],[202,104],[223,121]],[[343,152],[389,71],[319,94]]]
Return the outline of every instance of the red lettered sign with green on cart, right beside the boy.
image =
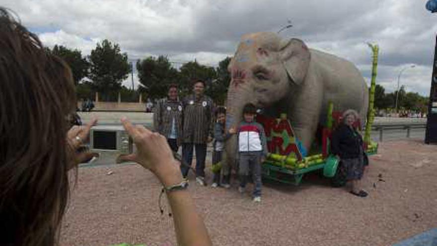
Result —
[[[306,151],[294,135],[291,124],[286,117],[275,119],[259,114],[256,116],[256,121],[264,127],[269,153],[282,156],[294,154],[298,160],[306,156]]]

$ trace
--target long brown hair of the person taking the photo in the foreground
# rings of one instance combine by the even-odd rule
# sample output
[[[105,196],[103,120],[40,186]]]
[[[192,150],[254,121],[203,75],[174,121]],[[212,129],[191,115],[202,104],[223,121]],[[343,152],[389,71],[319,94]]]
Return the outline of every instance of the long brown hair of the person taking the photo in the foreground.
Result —
[[[0,245],[54,245],[75,109],[70,69],[0,8]]]

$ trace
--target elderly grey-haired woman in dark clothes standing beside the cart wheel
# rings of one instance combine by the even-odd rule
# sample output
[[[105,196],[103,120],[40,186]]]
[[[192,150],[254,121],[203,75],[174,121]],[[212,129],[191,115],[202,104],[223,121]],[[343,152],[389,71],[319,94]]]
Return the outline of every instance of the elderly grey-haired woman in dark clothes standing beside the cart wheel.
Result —
[[[367,192],[360,189],[360,180],[364,173],[363,138],[354,127],[359,119],[357,111],[346,110],[343,113],[343,123],[332,133],[331,153],[341,160],[340,172],[343,172],[351,183],[351,193],[366,197]]]

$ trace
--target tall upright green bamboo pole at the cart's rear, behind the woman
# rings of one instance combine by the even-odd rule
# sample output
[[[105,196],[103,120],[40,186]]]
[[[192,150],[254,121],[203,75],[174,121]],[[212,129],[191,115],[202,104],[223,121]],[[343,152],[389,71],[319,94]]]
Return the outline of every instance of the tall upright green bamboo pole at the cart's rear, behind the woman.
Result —
[[[373,108],[373,104],[375,102],[375,87],[376,87],[376,69],[378,67],[378,52],[379,46],[377,44],[372,45],[367,43],[367,45],[372,49],[372,80],[370,82],[370,93],[369,93],[369,105],[367,110],[367,122],[365,125],[365,134],[364,134],[364,142],[366,145],[370,143],[370,131],[372,128],[373,120],[375,117],[375,109]]]

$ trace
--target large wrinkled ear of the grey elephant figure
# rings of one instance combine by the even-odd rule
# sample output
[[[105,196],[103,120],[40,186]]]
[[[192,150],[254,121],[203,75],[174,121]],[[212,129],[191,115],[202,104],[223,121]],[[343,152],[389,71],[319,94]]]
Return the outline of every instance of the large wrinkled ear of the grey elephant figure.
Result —
[[[308,71],[311,54],[300,39],[283,40],[279,49],[280,57],[291,81],[300,84]]]

